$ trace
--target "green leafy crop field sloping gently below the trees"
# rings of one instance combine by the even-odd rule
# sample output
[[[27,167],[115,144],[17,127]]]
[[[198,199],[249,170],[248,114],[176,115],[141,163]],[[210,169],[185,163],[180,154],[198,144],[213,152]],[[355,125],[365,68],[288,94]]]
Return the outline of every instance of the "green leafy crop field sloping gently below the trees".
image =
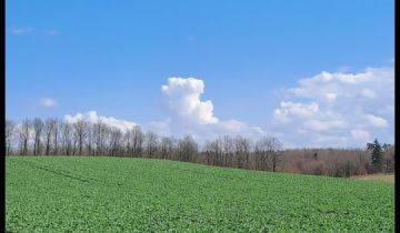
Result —
[[[6,159],[11,232],[394,232],[394,185],[174,161]]]

